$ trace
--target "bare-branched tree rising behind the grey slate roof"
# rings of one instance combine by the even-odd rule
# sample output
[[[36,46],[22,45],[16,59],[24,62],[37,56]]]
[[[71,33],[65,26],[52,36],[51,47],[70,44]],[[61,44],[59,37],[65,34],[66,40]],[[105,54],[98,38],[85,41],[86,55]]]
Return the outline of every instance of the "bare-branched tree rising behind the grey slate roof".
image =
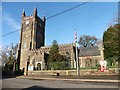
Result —
[[[89,47],[94,46],[97,40],[98,39],[95,36],[81,35],[78,43],[80,46]]]

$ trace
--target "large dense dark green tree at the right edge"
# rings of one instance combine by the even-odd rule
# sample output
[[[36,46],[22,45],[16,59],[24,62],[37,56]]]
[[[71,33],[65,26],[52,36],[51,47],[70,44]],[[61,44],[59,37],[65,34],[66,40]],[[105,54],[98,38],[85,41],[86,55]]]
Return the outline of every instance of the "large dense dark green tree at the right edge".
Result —
[[[118,24],[110,26],[103,35],[104,57],[112,66],[118,60],[119,39]]]

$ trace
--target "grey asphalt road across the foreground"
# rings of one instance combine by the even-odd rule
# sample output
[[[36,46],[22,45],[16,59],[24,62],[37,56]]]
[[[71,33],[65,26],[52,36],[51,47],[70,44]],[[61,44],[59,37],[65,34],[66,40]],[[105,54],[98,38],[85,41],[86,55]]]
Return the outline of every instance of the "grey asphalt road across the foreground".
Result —
[[[21,90],[22,88],[24,88],[22,90],[29,90],[29,89],[33,90],[33,88],[37,88],[37,89],[39,88],[40,90],[43,90],[45,88],[56,88],[56,89],[57,88],[63,88],[63,89],[64,88],[109,88],[110,90],[118,90],[118,89],[115,89],[115,88],[118,88],[118,83],[6,78],[2,80],[2,88],[17,88],[17,90],[18,89]],[[50,90],[53,90],[53,89],[50,89]]]

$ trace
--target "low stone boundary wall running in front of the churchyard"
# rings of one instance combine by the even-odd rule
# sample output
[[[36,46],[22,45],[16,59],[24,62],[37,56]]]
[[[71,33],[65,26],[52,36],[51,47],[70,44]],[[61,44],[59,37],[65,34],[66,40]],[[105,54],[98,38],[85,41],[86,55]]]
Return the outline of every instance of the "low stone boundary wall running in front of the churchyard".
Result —
[[[114,70],[105,70],[100,72],[97,70],[80,70],[80,75],[115,75]],[[77,70],[43,70],[43,71],[28,71],[28,75],[77,75]]]

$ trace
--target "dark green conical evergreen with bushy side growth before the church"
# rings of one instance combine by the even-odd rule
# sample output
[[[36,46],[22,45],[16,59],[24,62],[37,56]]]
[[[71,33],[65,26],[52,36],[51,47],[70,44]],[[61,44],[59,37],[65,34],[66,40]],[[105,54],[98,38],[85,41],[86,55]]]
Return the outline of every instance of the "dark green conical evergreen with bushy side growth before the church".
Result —
[[[68,56],[63,56],[59,54],[58,43],[56,40],[54,40],[52,42],[52,46],[48,57],[47,62],[48,69],[53,70],[69,69],[70,68],[69,61],[70,59]]]

